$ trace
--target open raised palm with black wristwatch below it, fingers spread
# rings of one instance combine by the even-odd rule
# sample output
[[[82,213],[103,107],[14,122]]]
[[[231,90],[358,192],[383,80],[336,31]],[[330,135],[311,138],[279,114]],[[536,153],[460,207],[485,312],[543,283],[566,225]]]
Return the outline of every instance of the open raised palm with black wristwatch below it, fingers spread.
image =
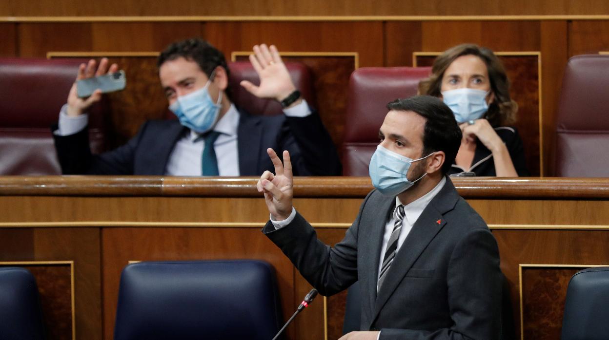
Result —
[[[260,77],[260,85],[256,86],[243,80],[241,86],[256,97],[272,98],[281,102],[296,90],[275,45],[271,45],[270,49],[266,44],[254,46],[254,54],[250,54],[250,63]]]

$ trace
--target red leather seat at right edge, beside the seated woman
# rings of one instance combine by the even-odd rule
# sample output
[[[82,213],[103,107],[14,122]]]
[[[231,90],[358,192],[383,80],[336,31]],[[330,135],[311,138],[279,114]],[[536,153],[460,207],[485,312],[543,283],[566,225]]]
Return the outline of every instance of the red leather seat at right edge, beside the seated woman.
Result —
[[[555,175],[609,176],[609,55],[577,55],[563,77]]]

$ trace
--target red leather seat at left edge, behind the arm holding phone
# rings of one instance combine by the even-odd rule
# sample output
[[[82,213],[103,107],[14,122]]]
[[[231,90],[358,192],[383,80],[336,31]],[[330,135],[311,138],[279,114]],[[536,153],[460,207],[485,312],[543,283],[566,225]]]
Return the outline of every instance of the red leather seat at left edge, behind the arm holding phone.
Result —
[[[50,128],[82,62],[0,58],[0,175],[61,174]],[[91,150],[96,153],[107,147],[103,102],[89,119]]]

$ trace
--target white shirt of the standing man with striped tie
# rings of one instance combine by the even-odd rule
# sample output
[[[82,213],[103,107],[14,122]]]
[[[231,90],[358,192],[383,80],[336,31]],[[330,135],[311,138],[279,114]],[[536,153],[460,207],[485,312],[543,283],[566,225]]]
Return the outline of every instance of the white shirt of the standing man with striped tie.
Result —
[[[395,249],[396,254],[400,250],[400,247],[404,243],[404,240],[406,240],[406,237],[410,233],[412,226],[421,216],[421,213],[423,213],[423,210],[428,206],[429,202],[431,202],[431,200],[435,197],[435,195],[437,195],[438,192],[440,192],[440,190],[442,190],[445,183],[446,183],[446,177],[442,177],[442,179],[434,187],[434,189],[432,189],[425,195],[421,196],[420,198],[417,198],[417,200],[415,200],[414,202],[412,202],[410,204],[406,204],[404,206],[404,218],[402,220],[402,229],[400,230],[400,237],[398,237],[398,248]],[[400,202],[400,199],[396,197],[395,198],[395,207],[393,209],[392,217],[389,219],[389,221],[387,221],[387,223],[385,223],[385,231],[383,233],[382,245],[381,245],[381,259],[379,261],[379,270],[378,270],[379,274],[381,272],[383,257],[385,257],[385,249],[387,249],[387,243],[389,243],[389,238],[391,237],[391,234],[393,232],[393,225],[395,224],[395,221],[396,221],[396,208],[401,205],[403,205],[403,204]],[[274,221],[273,217],[271,215],[270,221],[271,221],[271,223],[273,223],[273,227],[275,227],[275,230],[277,230],[284,226],[287,226],[287,224],[292,222],[292,220],[294,220],[295,217],[296,217],[296,209],[294,209],[294,207],[292,207],[292,213],[290,213],[290,216],[288,218],[286,218],[285,220]],[[376,277],[377,284],[378,284],[378,279],[379,278],[377,276]],[[378,289],[378,286],[377,286],[377,289]],[[379,332],[376,339],[378,340],[380,337],[381,337],[381,332]]]

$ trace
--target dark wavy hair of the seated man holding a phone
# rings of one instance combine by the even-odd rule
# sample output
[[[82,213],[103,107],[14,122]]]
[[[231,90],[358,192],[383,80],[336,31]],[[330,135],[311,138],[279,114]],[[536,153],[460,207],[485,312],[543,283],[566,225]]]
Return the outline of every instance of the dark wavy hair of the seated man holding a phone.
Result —
[[[208,41],[200,38],[190,38],[171,43],[158,56],[157,67],[160,68],[166,61],[175,60],[180,57],[197,63],[207,77],[210,77],[211,72],[218,66],[222,66],[226,70],[227,77],[230,75],[224,54],[208,43]],[[227,86],[224,92],[229,98],[231,97],[230,87]]]

